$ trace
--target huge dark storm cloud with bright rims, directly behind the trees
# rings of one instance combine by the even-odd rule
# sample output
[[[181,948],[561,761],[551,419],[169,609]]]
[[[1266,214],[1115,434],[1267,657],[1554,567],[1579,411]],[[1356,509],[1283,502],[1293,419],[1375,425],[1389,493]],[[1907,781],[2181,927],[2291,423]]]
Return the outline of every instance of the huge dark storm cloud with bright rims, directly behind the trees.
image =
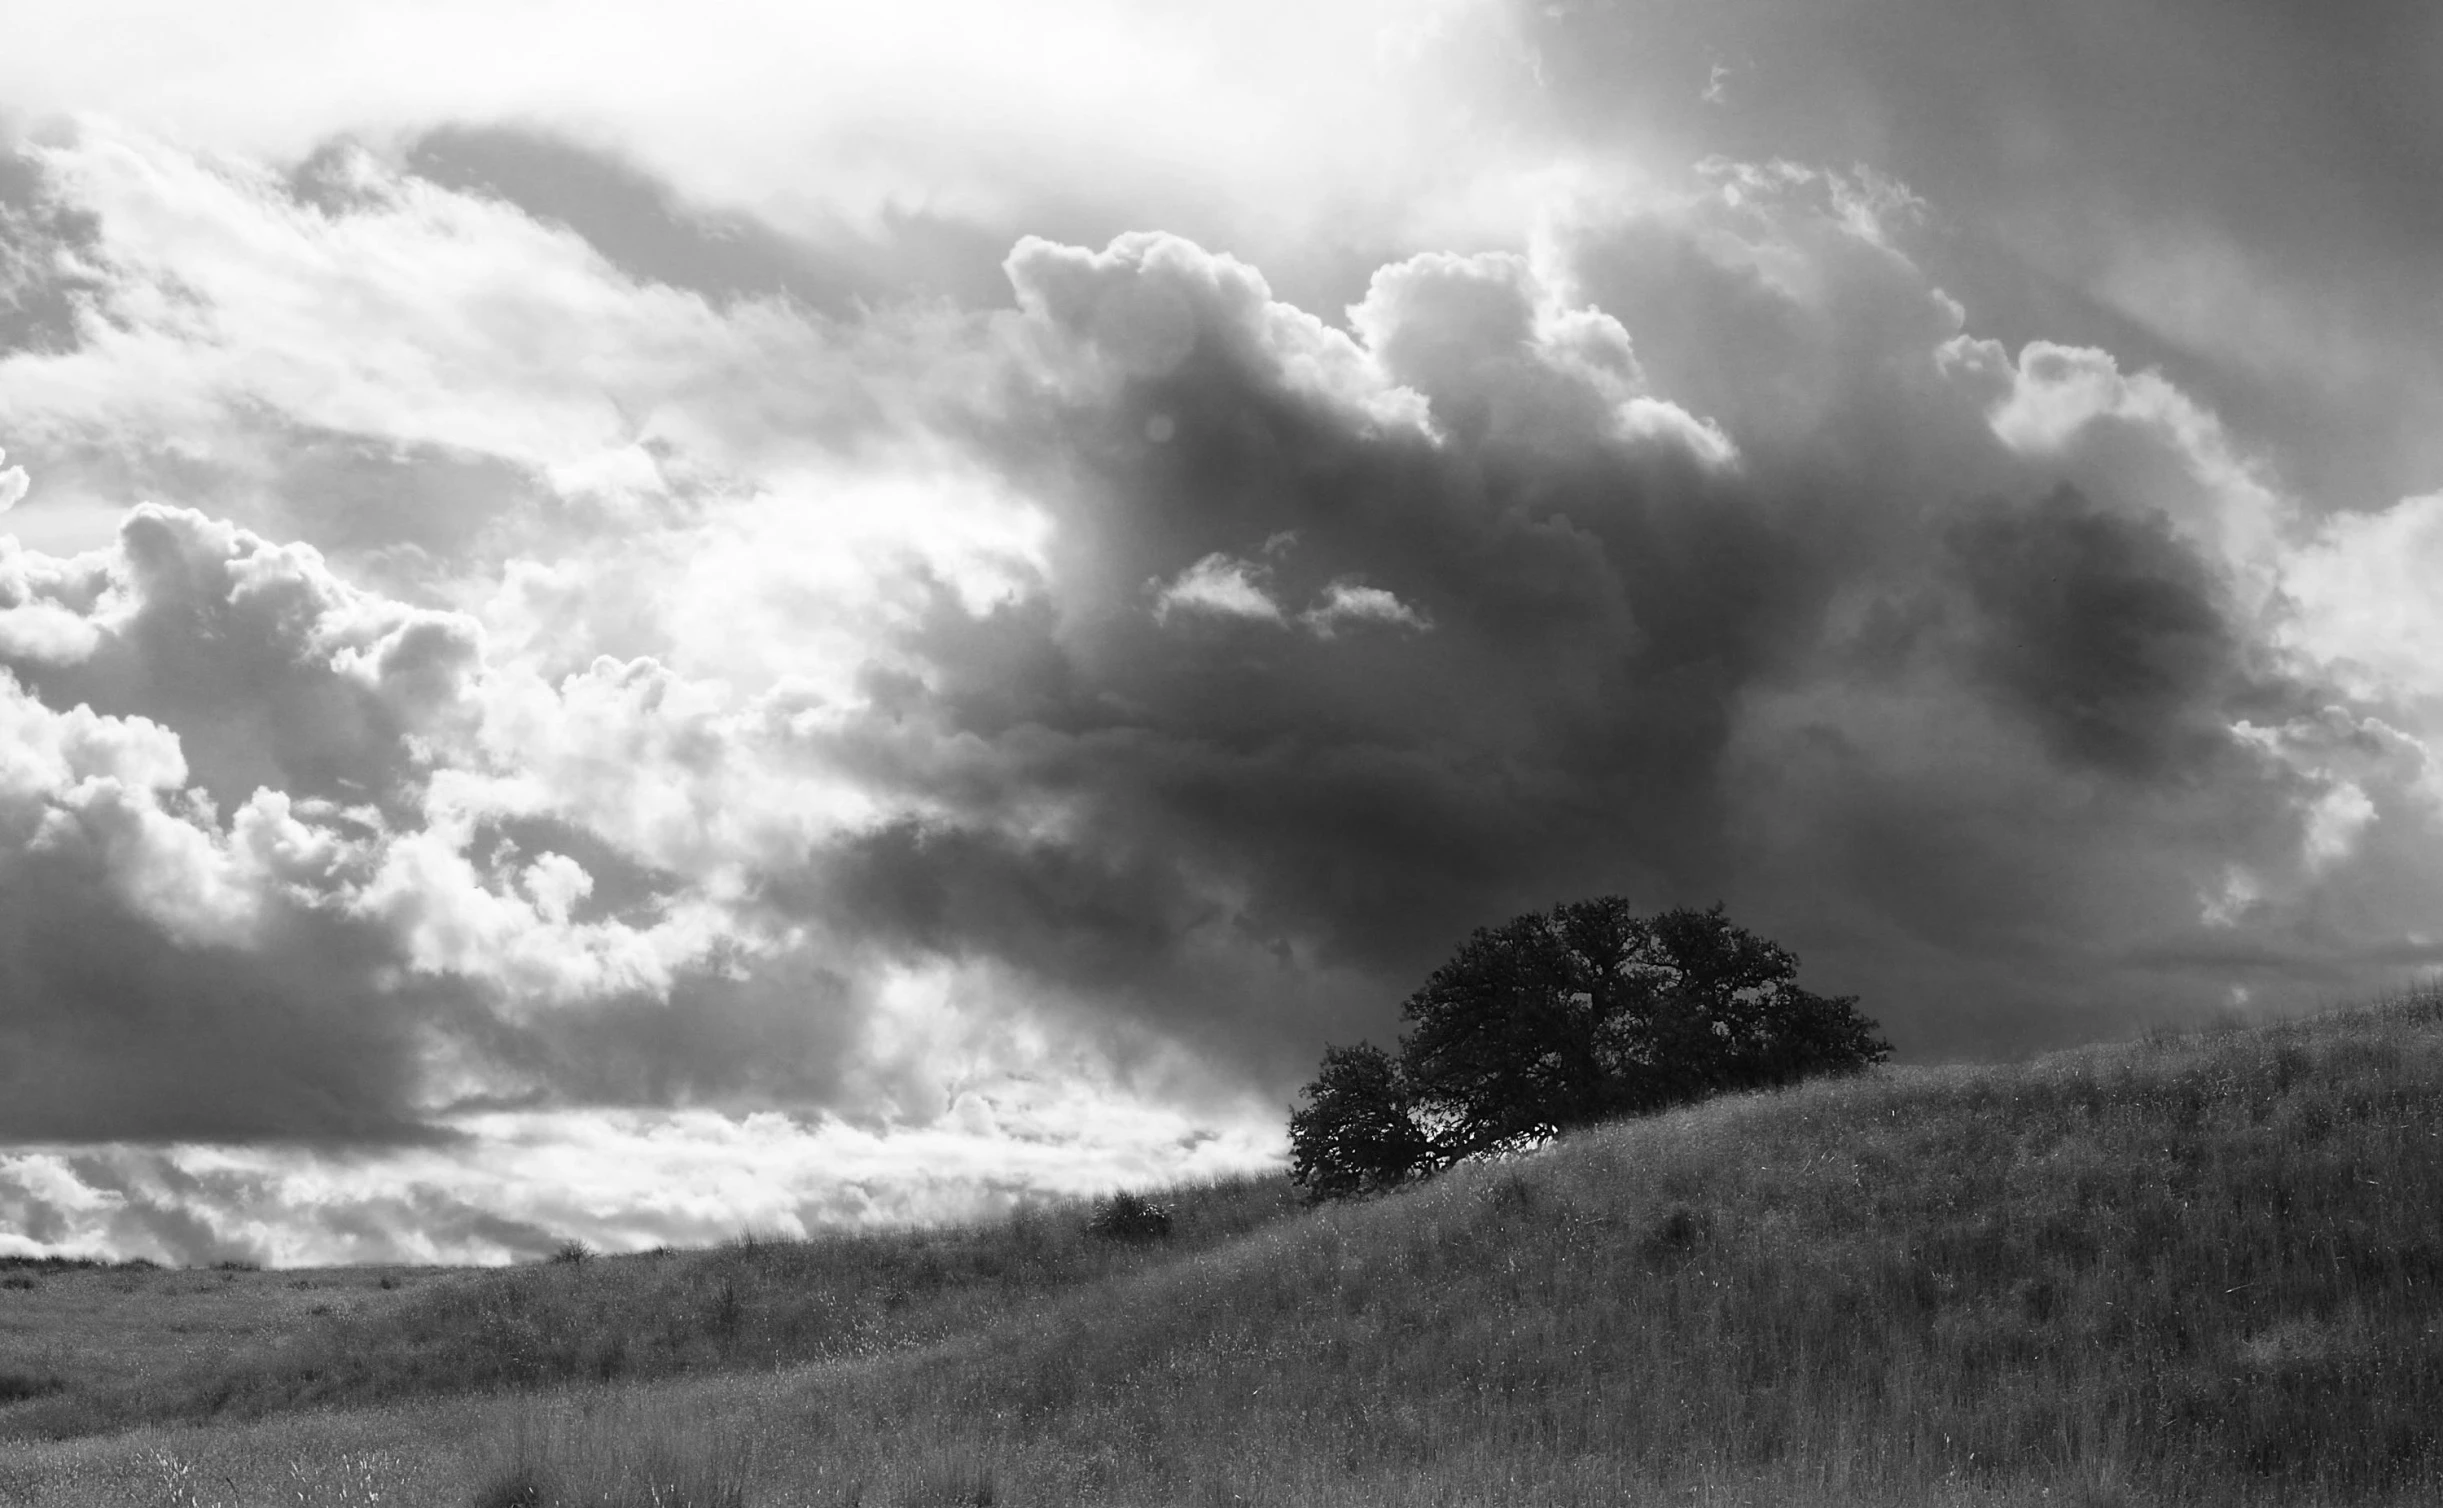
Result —
[[[2162,939],[2211,953],[2233,865],[2296,873],[2338,787],[2235,733],[2333,692],[2191,528],[2191,430],[2099,408],[2103,459],[2013,450],[1989,413],[2028,379],[1859,222],[1903,196],[1715,183],[1578,230],[1595,306],[1419,257],[1353,335],[1182,242],[1021,247],[992,442],[1055,511],[1043,577],[931,594],[923,675],[833,753],[936,816],[816,870],[875,936],[1256,1073],[1383,1029],[1468,926],[1603,890],[1730,899],[1913,1051],[2221,1005]],[[1429,628],[1300,633],[1334,579]],[[1182,970],[1212,939],[1309,980]]]

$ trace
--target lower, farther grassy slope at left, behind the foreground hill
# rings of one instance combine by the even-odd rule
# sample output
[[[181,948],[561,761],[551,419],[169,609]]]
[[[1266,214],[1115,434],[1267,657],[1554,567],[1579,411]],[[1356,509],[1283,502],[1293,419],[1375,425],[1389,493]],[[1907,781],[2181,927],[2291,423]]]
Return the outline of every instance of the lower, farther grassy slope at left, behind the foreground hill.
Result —
[[[1285,1178],[1251,1176],[1170,1190],[1160,1242],[1097,1239],[1085,1205],[1046,1205],[982,1227],[740,1237],[704,1251],[459,1273],[105,1268],[78,1273],[88,1293],[17,1305],[37,1310],[17,1315],[20,1349],[46,1352],[59,1386],[27,1391],[17,1408],[0,1391],[0,1440],[877,1356],[972,1334],[1297,1207]],[[200,1325],[215,1298],[242,1293],[261,1308],[259,1295],[288,1288],[315,1303],[291,1305],[286,1327]],[[127,1325],[105,1332],[120,1312],[154,1344]],[[178,1344],[191,1334],[208,1342],[200,1361]]]

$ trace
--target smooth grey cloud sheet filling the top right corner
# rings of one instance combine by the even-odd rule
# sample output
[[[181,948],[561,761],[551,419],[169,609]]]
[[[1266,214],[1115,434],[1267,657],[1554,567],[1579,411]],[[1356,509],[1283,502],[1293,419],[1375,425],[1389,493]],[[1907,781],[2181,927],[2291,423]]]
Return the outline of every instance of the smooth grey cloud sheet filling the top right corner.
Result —
[[[2443,359],[2394,318],[2438,293],[2428,5],[1517,10],[1564,137],[1871,164],[1930,200],[1928,269],[2011,345],[2164,362],[2333,503],[2443,464]]]

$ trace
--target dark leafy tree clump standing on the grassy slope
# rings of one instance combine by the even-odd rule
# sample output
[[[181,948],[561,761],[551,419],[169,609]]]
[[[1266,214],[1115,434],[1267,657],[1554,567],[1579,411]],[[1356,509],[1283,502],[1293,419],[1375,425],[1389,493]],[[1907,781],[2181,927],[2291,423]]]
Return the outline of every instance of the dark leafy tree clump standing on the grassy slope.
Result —
[[[1397,1058],[1327,1049],[1290,1112],[1312,1198],[1891,1056],[1854,997],[1800,990],[1798,958],[1722,907],[1637,917],[1620,897],[1478,929],[1400,1014]]]

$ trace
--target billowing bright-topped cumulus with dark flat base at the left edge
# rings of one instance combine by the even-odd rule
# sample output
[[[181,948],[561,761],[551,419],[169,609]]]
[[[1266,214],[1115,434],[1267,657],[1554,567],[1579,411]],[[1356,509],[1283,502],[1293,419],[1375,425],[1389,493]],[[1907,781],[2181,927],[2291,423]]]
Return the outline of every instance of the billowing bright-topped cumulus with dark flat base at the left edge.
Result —
[[[669,838],[650,804],[613,826],[584,802],[621,792],[533,789],[547,748],[493,758],[518,716],[584,728],[596,682],[496,684],[469,618],[195,513],[12,562],[10,613],[78,631],[12,645],[0,684],[7,1134],[420,1139],[471,1097],[826,1102],[855,990],[804,934],[721,909],[718,870],[647,858],[721,833]],[[613,701],[586,758],[684,719],[672,701]]]

